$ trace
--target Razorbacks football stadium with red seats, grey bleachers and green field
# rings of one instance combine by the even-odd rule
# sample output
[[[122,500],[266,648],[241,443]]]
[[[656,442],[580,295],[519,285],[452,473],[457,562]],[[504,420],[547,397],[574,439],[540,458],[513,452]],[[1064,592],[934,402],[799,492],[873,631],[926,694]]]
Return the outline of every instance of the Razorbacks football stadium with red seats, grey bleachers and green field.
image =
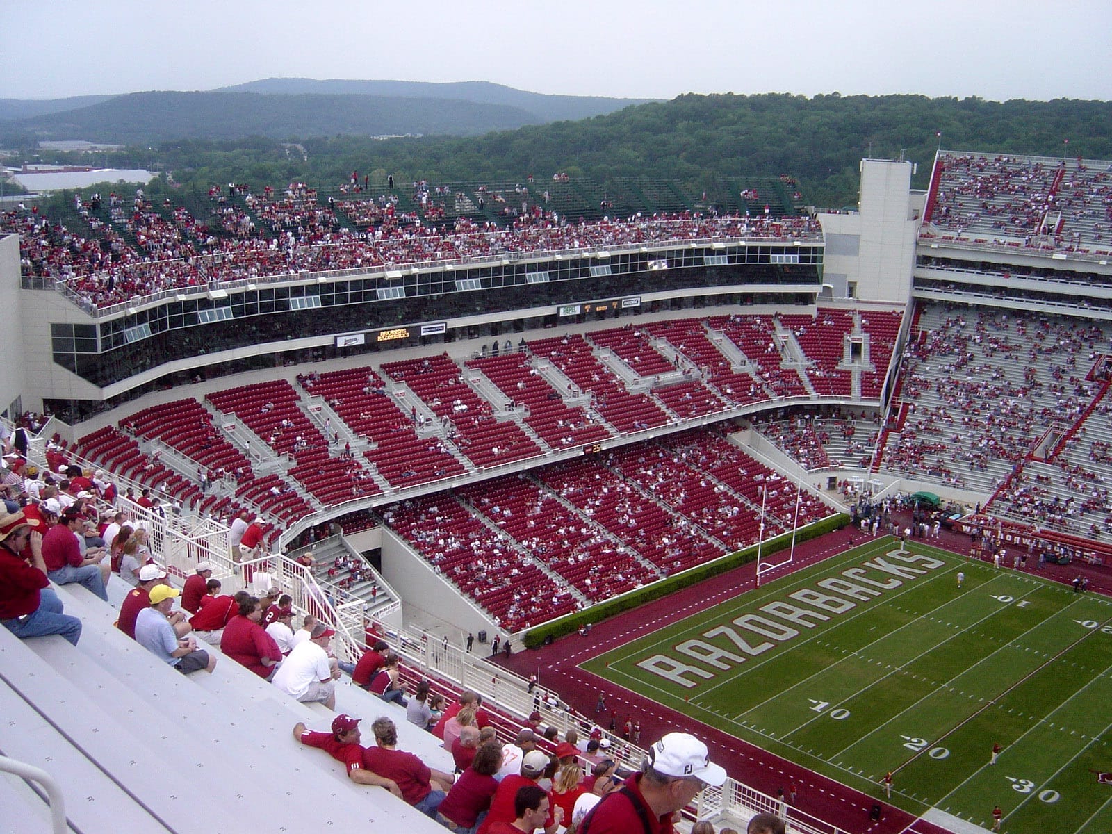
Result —
[[[559,173],[6,211],[4,425],[176,584],[275,585],[502,742],[536,714],[635,772],[706,738],[731,778],[684,830],[1106,831],[1112,165],[913,167],[862,160],[841,212]],[[56,588],[77,646],[0,629],[0,753],[61,785],[57,831],[443,830],[290,738],[331,709],[162,668],[128,589]],[[341,681],[335,712],[399,709]],[[52,787],[0,790],[47,830]]]

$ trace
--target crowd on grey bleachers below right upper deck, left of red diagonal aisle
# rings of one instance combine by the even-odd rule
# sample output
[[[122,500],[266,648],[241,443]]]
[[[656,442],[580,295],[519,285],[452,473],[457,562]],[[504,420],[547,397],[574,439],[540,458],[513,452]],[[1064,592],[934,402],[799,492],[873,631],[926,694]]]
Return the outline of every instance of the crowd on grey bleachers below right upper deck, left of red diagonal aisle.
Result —
[[[1000,486],[1055,424],[1083,417],[1089,373],[1112,345],[1103,325],[929,305],[903,357],[910,404],[883,466],[956,486]]]

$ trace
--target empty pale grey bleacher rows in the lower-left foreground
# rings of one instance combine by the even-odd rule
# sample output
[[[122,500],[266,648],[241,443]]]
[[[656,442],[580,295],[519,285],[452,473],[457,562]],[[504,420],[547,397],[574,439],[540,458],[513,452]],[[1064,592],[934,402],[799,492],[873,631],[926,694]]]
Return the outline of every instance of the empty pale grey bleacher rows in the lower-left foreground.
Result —
[[[62,781],[75,828],[192,832],[203,824],[231,832],[249,818],[259,832],[321,824],[366,831],[368,823],[378,832],[439,831],[292,739],[297,721],[327,727],[324,707],[297,704],[226,657],[211,676],[182,676],[118,632],[113,607],[76,586],[58,594],[85,624],[79,646],[60,637],[19,641],[0,629],[3,702],[11,706],[0,745]],[[405,747],[400,723],[404,715]],[[53,731],[42,734],[49,745],[33,732],[42,725]]]

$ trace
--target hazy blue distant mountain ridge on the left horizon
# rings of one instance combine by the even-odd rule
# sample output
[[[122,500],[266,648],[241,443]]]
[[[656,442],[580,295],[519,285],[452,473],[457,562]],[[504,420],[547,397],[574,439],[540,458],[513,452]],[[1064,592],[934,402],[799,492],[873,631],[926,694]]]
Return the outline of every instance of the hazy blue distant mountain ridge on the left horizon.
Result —
[[[477,136],[600,116],[641,101],[547,96],[487,81],[271,78],[201,92],[0,99],[0,138],[142,145],[248,136]]]

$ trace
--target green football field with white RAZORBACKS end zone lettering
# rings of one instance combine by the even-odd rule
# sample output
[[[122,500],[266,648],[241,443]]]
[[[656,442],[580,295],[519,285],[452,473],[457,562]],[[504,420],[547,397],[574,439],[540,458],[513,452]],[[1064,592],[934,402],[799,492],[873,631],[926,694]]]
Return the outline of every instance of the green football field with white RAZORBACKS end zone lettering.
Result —
[[[1112,603],[877,539],[584,664],[873,796],[1112,832]],[[846,573],[847,572],[847,573]],[[964,573],[959,589],[957,574]],[[993,743],[1003,747],[989,765]]]

